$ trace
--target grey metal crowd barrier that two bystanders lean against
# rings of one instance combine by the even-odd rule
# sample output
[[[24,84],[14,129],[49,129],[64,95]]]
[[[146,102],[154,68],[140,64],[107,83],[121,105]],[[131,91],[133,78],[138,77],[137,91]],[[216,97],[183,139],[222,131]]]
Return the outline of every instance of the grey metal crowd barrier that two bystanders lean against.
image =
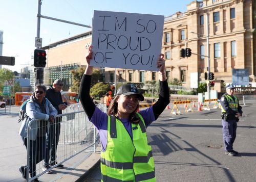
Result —
[[[103,105],[98,106],[101,110],[106,112],[106,107]],[[65,110],[64,110],[65,111]],[[96,148],[96,139],[98,138],[98,133],[96,132],[96,129],[94,125],[89,121],[86,113],[83,111],[80,104],[76,104],[74,106],[71,105],[71,107],[67,108],[67,111],[65,111],[64,114],[57,115],[56,121],[61,121],[59,124],[58,122],[49,123],[48,121],[45,122],[45,125],[37,125],[38,120],[32,119],[28,126],[28,135],[27,139],[28,141],[31,141],[32,138],[31,134],[35,134],[34,132],[36,129],[40,131],[37,133],[37,136],[46,136],[45,133],[49,132],[51,135],[52,132],[56,132],[59,129],[59,141],[55,141],[58,143],[57,149],[56,149],[56,162],[58,164],[55,164],[51,166],[48,170],[42,171],[42,168],[45,164],[45,158],[48,157],[50,159],[50,156],[47,155],[47,151],[49,150],[49,147],[47,145],[48,140],[50,140],[51,137],[45,137],[44,140],[42,137],[36,137],[36,140],[32,142],[27,142],[27,169],[26,176],[27,181],[31,181],[42,174],[52,170],[54,167],[58,166],[59,164],[73,158],[75,155],[79,154],[82,151],[85,152],[95,152]],[[43,123],[42,121],[39,121],[39,123]],[[51,126],[50,126],[51,125]],[[36,129],[32,129],[31,126],[36,126]],[[33,128],[33,127],[32,127]],[[45,131],[45,132],[42,132]],[[40,141],[38,141],[40,140]],[[97,141],[98,142],[98,141]],[[36,145],[37,143],[37,145]],[[37,163],[35,168],[33,168],[34,173],[36,173],[35,176],[30,178],[29,173],[29,151],[38,151],[36,155],[31,156],[32,163]],[[46,153],[47,152],[47,153]],[[47,159],[47,158],[46,158]]]

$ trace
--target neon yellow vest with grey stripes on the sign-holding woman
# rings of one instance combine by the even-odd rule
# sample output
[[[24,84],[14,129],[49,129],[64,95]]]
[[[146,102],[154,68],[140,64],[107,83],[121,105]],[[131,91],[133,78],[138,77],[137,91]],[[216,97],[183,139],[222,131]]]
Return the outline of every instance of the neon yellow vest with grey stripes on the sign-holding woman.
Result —
[[[145,123],[138,116],[139,123],[131,123],[133,140],[119,119],[108,117],[108,143],[100,159],[101,181],[156,181]]]

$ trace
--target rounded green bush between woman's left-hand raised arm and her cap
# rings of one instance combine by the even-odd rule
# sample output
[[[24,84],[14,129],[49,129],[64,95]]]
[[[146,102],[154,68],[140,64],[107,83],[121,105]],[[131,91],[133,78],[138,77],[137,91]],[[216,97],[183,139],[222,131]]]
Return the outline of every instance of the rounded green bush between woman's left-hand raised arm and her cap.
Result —
[[[93,96],[95,99],[100,99],[100,97],[104,96],[109,89],[110,84],[104,84],[102,82],[99,82],[91,88],[90,95]]]

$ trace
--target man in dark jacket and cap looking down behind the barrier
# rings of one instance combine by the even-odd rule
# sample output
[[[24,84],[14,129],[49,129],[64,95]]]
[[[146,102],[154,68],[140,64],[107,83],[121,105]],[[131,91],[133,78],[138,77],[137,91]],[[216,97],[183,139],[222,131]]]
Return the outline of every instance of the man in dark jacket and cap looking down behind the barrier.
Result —
[[[53,107],[58,111],[58,114],[62,114],[62,110],[65,110],[67,108],[67,106],[63,104],[61,93],[60,93],[62,87],[63,87],[63,82],[57,79],[53,82],[53,85],[50,86],[50,88],[46,92],[46,98],[50,100]],[[54,120],[54,123],[50,125],[50,131],[47,134],[48,147],[50,152],[50,154],[48,152],[48,156],[50,157],[50,162],[49,164],[45,164],[46,169],[49,168],[49,165],[54,166],[57,164],[56,151],[57,151],[57,145],[58,145],[59,134],[60,134],[60,122],[61,122],[61,117],[57,117]],[[56,168],[63,168],[63,165],[59,164],[58,166],[56,166]]]

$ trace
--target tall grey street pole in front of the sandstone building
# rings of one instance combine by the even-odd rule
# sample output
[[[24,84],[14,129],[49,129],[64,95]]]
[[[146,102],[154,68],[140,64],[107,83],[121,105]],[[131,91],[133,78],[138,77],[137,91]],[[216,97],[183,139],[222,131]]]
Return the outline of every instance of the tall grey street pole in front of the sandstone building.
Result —
[[[210,77],[210,54],[209,54],[209,24],[208,24],[208,14],[206,16],[206,35],[203,35],[203,34],[198,34],[198,33],[195,33],[195,32],[190,32],[190,33],[193,33],[193,34],[197,34],[197,35],[202,35],[202,36],[205,36],[206,37],[206,44],[207,44],[207,56],[205,55],[202,55],[202,56],[205,56],[207,57],[207,94],[208,94],[208,99],[210,99],[210,80],[209,80],[209,77]]]

